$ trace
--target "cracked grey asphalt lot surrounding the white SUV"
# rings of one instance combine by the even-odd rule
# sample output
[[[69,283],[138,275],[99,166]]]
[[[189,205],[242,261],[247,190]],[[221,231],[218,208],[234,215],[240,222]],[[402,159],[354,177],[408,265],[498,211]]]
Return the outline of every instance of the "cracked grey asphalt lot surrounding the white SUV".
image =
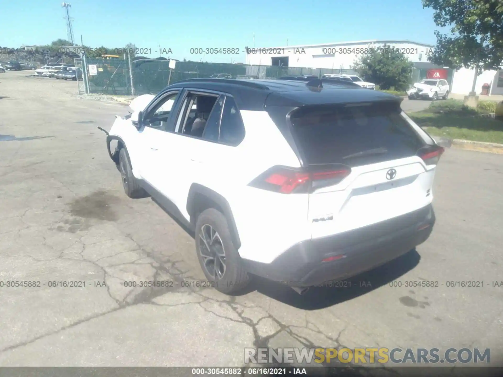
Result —
[[[491,348],[503,365],[503,156],[447,150],[430,239],[351,288],[256,279],[229,297],[204,287],[190,234],[124,194],[97,127],[128,107],[76,88],[0,75],[0,365],[241,366],[245,347],[343,346]]]

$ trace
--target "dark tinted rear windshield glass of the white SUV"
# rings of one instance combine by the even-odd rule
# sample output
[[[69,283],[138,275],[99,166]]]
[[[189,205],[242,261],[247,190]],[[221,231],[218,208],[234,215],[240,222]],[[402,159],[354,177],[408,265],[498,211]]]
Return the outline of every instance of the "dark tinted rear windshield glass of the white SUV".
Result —
[[[424,141],[385,106],[302,108],[290,117],[307,164],[361,166],[413,156]]]

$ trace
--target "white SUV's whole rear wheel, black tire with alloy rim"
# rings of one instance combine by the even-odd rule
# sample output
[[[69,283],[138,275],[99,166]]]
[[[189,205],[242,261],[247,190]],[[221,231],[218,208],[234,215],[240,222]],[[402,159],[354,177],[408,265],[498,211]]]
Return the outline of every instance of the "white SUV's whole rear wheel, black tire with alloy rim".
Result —
[[[195,236],[199,264],[218,291],[231,294],[249,284],[250,276],[232,242],[227,219],[220,211],[215,208],[203,211],[196,221]]]

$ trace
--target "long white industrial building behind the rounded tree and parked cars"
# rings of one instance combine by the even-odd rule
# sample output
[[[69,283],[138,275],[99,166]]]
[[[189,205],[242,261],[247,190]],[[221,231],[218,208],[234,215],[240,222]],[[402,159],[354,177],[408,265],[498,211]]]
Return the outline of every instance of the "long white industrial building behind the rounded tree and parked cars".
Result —
[[[299,68],[330,69],[333,73],[356,73],[351,68],[368,48],[382,48],[387,45],[399,49],[414,63],[414,80],[426,78],[430,69],[445,70],[451,92],[467,95],[472,88],[474,71],[461,68],[457,72],[428,61],[429,53],[435,46],[406,40],[368,40],[356,42],[322,43],[315,45],[282,47],[247,47],[245,64],[283,66]],[[328,72],[327,72],[328,73]],[[480,93],[482,85],[490,85],[489,93],[503,94],[503,70],[485,71],[478,76],[475,91]]]

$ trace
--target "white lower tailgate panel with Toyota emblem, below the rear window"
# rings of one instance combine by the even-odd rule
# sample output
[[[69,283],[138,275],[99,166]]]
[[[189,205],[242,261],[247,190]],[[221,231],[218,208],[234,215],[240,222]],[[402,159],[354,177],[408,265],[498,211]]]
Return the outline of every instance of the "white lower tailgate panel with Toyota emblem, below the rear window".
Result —
[[[418,160],[411,157],[354,168],[341,183],[310,194],[311,236],[361,228],[428,205],[434,172],[426,171]]]

